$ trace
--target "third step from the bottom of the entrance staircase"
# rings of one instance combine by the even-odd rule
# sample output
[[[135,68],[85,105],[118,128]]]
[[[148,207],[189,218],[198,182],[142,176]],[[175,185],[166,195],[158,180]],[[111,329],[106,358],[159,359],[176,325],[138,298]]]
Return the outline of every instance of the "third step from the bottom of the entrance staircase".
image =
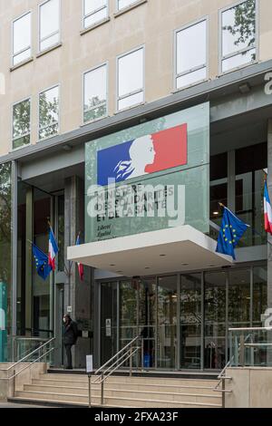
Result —
[[[33,379],[32,381],[33,384],[38,384],[41,386],[65,386],[67,388],[84,388],[84,389],[88,389],[88,382],[73,382],[73,381],[66,381],[66,380],[51,380],[51,379]],[[165,385],[165,384],[131,384],[131,383],[126,383],[126,382],[108,382],[106,381],[104,383],[104,387],[105,389],[107,389],[108,387],[120,387],[121,389],[128,389],[128,390],[135,390],[135,391],[147,391],[147,390],[151,390],[151,392],[153,390],[155,391],[163,391],[163,392],[178,392],[178,393],[182,393],[182,392],[194,392],[194,393],[209,393],[209,394],[214,394],[214,388],[215,388],[215,384],[212,387],[208,387],[208,386],[194,386],[194,385]],[[100,389],[101,388],[101,384],[98,383],[93,383],[92,382],[92,389]]]

